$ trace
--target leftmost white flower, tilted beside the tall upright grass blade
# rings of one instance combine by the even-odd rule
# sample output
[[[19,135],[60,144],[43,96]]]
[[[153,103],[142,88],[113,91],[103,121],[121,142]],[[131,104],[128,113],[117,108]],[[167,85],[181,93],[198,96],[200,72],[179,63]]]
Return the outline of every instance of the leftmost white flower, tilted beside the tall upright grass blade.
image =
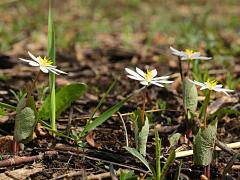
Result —
[[[28,51],[29,56],[32,58],[32,60],[28,59],[23,59],[19,58],[21,61],[27,62],[29,65],[34,66],[34,67],[39,67],[40,70],[44,73],[49,73],[52,72],[54,74],[59,75],[60,73],[62,74],[67,74],[64,71],[61,71],[59,69],[56,69],[57,66],[52,65],[52,61],[46,57],[42,58],[41,56],[35,57],[32,53]]]

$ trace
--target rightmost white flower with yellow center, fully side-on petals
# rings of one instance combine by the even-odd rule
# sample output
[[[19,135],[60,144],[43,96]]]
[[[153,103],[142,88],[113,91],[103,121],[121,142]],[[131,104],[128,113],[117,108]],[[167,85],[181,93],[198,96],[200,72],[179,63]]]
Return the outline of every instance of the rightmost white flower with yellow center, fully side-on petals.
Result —
[[[200,90],[204,90],[204,89],[209,89],[210,91],[214,90],[214,91],[217,91],[217,92],[223,92],[228,96],[229,96],[229,94],[227,92],[233,92],[233,90],[222,88],[222,85],[217,84],[216,80],[208,79],[207,82],[204,82],[204,83],[201,83],[201,82],[198,82],[198,81],[195,81],[195,80],[194,81],[190,80],[190,81],[193,84],[201,86]]]

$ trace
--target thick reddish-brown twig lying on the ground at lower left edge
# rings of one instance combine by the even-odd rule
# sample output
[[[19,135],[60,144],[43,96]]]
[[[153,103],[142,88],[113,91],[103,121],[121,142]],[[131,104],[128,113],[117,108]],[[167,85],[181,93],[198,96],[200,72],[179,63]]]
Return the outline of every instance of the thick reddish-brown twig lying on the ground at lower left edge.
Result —
[[[44,154],[39,154],[36,156],[15,156],[13,158],[10,159],[5,159],[0,161],[0,167],[7,167],[7,166],[15,166],[15,165],[19,165],[19,164],[24,164],[24,163],[28,163],[28,162],[32,162],[32,161],[36,161],[36,160],[40,160],[43,159],[44,156],[46,155],[57,155],[56,151],[47,151]]]

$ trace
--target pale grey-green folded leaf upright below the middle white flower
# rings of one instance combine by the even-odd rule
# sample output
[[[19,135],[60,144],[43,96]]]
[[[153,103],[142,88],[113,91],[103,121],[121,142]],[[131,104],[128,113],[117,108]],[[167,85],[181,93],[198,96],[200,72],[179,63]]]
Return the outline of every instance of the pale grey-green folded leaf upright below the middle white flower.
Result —
[[[149,121],[146,115],[144,117],[145,124],[142,126],[141,130],[137,132],[137,149],[143,156],[146,156],[147,140],[149,134]]]

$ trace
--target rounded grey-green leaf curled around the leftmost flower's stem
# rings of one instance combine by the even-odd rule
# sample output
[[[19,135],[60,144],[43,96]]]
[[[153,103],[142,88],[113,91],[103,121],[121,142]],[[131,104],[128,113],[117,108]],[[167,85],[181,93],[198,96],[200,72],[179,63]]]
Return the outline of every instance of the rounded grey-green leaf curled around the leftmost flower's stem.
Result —
[[[14,138],[19,143],[27,143],[32,138],[36,125],[34,110],[26,106],[25,96],[19,101],[16,111]]]

